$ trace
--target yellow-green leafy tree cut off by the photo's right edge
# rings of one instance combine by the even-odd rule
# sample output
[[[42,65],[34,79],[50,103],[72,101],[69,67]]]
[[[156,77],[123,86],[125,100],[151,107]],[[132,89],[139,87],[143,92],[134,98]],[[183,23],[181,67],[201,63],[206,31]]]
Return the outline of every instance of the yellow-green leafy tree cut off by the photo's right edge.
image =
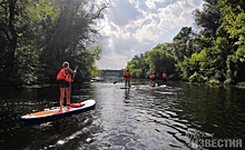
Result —
[[[223,0],[219,1],[223,12],[223,29],[231,39],[232,53],[227,58],[226,82],[245,82],[245,1]]]

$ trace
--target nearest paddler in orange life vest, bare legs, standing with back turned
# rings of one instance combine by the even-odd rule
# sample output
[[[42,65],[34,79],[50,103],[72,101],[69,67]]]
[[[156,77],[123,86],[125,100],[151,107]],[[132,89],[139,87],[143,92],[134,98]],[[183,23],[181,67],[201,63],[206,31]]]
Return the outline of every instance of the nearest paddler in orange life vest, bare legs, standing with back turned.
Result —
[[[60,86],[59,112],[62,112],[65,94],[67,96],[67,106],[68,106],[67,110],[70,109],[71,82],[74,80],[72,76],[75,77],[77,70],[78,67],[76,67],[75,70],[71,70],[69,68],[69,62],[65,61],[62,63],[62,69],[57,74],[57,80],[59,81],[59,86]]]

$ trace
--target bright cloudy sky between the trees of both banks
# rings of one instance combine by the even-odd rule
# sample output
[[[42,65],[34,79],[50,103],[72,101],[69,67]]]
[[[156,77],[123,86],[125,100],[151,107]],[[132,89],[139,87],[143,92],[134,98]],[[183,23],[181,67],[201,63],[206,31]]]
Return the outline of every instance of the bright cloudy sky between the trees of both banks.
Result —
[[[193,11],[203,0],[112,0],[100,22],[99,69],[125,69],[134,56],[171,42],[183,27],[194,27]]]

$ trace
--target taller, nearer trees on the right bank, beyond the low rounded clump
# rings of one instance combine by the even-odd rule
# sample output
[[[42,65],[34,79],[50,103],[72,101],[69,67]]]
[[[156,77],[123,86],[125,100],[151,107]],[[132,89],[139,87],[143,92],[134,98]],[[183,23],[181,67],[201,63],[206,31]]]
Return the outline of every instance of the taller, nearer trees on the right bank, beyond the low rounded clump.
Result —
[[[184,80],[245,81],[244,8],[242,0],[205,0],[203,10],[195,10],[199,32],[185,27],[173,42],[176,68]]]

